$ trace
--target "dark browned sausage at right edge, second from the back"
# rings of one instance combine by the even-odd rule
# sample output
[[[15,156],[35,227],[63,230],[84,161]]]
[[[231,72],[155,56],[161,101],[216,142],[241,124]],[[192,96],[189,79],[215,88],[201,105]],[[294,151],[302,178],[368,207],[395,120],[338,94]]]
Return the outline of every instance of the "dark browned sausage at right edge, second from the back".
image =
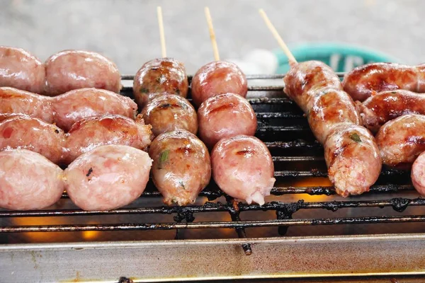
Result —
[[[382,91],[358,103],[363,125],[378,132],[386,122],[406,114],[425,114],[425,96],[412,91]]]

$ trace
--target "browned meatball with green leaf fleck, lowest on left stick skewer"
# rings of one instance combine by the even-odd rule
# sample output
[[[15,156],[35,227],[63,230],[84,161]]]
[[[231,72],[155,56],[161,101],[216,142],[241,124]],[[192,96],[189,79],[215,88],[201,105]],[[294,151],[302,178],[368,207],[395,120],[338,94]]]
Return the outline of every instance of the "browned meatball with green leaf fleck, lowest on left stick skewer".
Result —
[[[210,182],[210,154],[191,132],[160,134],[152,141],[149,156],[154,160],[152,179],[165,204],[193,203]]]

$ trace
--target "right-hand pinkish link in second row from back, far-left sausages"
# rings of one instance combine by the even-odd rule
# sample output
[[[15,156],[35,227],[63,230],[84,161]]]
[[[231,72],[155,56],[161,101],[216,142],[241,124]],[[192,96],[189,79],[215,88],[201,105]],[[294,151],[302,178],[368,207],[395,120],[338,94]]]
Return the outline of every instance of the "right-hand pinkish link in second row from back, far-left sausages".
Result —
[[[54,120],[65,131],[86,117],[116,114],[135,118],[136,103],[128,97],[98,88],[81,88],[52,98]]]

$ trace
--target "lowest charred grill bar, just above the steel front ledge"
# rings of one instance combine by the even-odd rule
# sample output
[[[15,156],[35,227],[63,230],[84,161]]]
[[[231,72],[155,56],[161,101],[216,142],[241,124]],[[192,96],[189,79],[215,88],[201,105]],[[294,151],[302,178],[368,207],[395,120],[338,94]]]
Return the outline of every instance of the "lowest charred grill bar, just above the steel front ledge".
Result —
[[[96,225],[48,225],[4,226],[0,233],[16,232],[71,232],[71,231],[125,231],[125,230],[171,230],[171,229],[244,229],[274,226],[315,226],[332,224],[374,224],[398,222],[422,222],[425,216],[375,216],[322,219],[277,219],[266,221],[222,221],[194,223],[149,223],[149,224],[96,224]]]

